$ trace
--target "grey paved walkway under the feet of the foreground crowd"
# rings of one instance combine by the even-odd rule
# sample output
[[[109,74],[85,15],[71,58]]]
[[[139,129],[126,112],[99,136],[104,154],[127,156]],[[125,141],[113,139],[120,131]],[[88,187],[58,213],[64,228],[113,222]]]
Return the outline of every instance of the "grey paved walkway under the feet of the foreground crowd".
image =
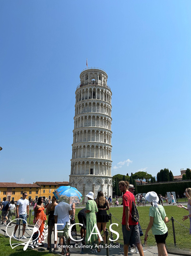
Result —
[[[28,225],[29,228],[32,228],[33,226],[32,225]],[[13,232],[14,232],[14,227],[15,225],[11,225],[11,226],[8,226],[7,227],[7,232],[9,235],[11,235]],[[6,226],[5,225],[1,225],[1,230],[0,230],[0,233],[1,234],[4,234],[5,232],[5,229],[6,229]],[[4,231],[3,231],[4,230]],[[31,234],[32,232],[30,230],[28,230],[28,228],[26,229],[26,232],[25,232],[25,236],[29,239],[31,237]],[[16,232],[16,235],[18,236],[18,230]],[[22,235],[22,226],[21,226],[21,235]],[[24,240],[23,240],[24,241]],[[25,241],[28,241],[28,240],[25,240]],[[52,232],[52,236],[51,236],[51,241],[52,241],[52,251],[53,251],[53,246],[54,246],[54,236],[53,236],[53,232]],[[59,239],[58,239],[58,242],[59,242]],[[73,241],[72,241],[73,242]],[[75,245],[75,243],[71,243],[71,245],[73,246],[72,248],[70,248],[70,254],[71,256],[74,255],[74,256],[80,256],[81,255],[81,242],[79,242],[78,244]],[[48,244],[47,244],[47,238],[45,239],[45,243],[44,243],[44,247],[38,247],[37,249],[35,250],[39,250],[39,248],[41,248],[40,250],[45,250],[47,248]],[[112,255],[112,256],[119,256],[119,255],[122,255],[123,256],[123,253],[120,251],[119,247],[121,248],[121,250],[123,251],[123,245],[120,245],[120,244],[117,244],[117,248],[114,248],[116,246],[113,246],[113,248],[110,248],[109,249],[109,255]],[[153,255],[158,255],[158,251],[157,251],[157,246],[152,246],[152,247],[144,247],[143,248],[145,251],[144,255],[145,256],[153,256]],[[48,252],[48,251],[47,251]],[[58,251],[55,252],[55,254],[59,254],[61,252],[61,248],[59,248]],[[168,256],[172,256],[172,255],[191,255],[191,251],[181,251],[181,250],[175,250],[175,251],[172,251],[171,250],[171,253],[168,253]],[[94,255],[93,253],[91,253],[89,251],[89,249],[83,249],[83,254],[85,254],[86,256],[87,255]],[[138,253],[139,254],[139,253]],[[136,251],[134,252],[129,252],[128,255],[138,255],[136,254]],[[106,249],[103,248],[102,251],[100,253],[97,253],[96,255],[106,255]]]

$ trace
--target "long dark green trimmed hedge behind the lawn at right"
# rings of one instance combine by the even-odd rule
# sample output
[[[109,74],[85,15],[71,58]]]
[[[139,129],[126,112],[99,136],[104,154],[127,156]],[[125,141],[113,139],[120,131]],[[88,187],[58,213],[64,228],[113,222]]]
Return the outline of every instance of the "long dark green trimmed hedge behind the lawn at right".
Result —
[[[149,191],[155,191],[157,194],[165,196],[167,192],[176,192],[179,196],[183,196],[187,187],[191,187],[191,181],[185,182],[169,182],[169,183],[151,183],[148,185],[137,186],[138,193],[147,193]]]

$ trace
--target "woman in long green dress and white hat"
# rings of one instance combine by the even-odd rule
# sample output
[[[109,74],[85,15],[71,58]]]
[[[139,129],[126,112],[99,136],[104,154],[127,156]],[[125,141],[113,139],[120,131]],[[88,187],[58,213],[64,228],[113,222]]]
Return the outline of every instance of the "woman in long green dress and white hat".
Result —
[[[90,240],[88,240],[93,227],[95,226],[96,222],[96,215],[95,213],[98,212],[97,205],[94,201],[94,193],[89,192],[86,197],[88,198],[87,204],[86,204],[86,244],[96,244],[98,243],[97,235],[92,234],[90,237]],[[96,229],[94,228],[93,233],[97,233]],[[96,242],[97,241],[97,242]],[[95,251],[93,252],[100,252],[100,249],[93,249]]]

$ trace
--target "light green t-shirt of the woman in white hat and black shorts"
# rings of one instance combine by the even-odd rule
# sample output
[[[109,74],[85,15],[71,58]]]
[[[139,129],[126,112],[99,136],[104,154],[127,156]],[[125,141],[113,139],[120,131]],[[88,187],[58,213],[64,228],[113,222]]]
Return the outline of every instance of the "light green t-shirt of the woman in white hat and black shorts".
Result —
[[[164,222],[164,218],[167,215],[163,206],[159,205],[158,208],[151,206],[149,210],[149,216],[154,217],[152,225],[153,235],[163,235],[167,233],[168,228]]]

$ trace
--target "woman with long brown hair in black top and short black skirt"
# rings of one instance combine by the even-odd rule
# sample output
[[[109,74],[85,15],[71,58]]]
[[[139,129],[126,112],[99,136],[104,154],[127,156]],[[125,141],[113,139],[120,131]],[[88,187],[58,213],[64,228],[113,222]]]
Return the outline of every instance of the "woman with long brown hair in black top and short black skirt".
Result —
[[[104,197],[104,194],[102,191],[98,191],[97,193],[97,198],[95,200],[97,204],[97,227],[99,229],[99,232],[101,233],[101,226],[104,231],[104,243],[105,243],[105,229],[106,229],[106,224],[109,222],[108,215],[107,215],[107,210],[109,210],[109,204],[107,199]],[[100,239],[99,239],[100,242]]]

